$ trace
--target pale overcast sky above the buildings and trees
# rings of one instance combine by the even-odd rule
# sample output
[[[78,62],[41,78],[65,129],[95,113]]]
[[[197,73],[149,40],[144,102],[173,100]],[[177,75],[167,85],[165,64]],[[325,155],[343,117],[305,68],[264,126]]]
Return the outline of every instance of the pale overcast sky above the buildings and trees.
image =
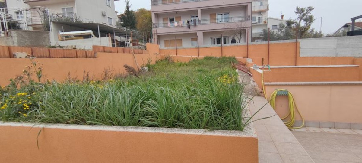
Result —
[[[130,0],[131,9],[151,9],[151,0]],[[322,32],[333,33],[345,23],[352,22],[351,18],[362,15],[362,0],[269,0],[269,16],[280,18],[281,13],[285,19],[295,19],[295,7],[315,7],[313,15],[316,17],[312,27],[320,30],[320,17],[323,17]],[[116,10],[123,13],[124,0],[115,2]],[[362,19],[361,19],[362,20]]]

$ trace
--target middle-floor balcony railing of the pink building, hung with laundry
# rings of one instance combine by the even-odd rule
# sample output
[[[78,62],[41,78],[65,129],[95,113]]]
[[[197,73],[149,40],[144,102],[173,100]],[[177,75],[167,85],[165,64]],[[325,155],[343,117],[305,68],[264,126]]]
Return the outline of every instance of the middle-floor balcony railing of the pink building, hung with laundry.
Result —
[[[250,16],[238,16],[238,17],[225,17],[218,19],[202,19],[190,21],[190,25],[203,25],[203,24],[216,24],[216,23],[230,23],[239,21],[250,21]],[[171,23],[153,23],[153,28],[163,27],[182,27],[187,26],[187,21],[171,22]]]

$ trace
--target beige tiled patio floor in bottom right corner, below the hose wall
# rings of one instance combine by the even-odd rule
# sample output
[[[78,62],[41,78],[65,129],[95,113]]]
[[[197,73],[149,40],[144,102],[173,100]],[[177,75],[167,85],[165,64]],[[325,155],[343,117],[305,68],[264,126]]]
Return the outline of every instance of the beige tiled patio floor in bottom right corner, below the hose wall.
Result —
[[[362,135],[358,134],[361,130],[308,127],[301,130],[292,134],[315,163],[362,163]]]

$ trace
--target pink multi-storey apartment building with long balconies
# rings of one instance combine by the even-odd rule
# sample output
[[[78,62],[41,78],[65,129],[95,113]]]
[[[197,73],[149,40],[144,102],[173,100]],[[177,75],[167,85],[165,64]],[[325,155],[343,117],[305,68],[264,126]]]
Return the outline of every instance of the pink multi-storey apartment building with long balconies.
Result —
[[[251,42],[252,0],[151,0],[151,11],[161,48]]]

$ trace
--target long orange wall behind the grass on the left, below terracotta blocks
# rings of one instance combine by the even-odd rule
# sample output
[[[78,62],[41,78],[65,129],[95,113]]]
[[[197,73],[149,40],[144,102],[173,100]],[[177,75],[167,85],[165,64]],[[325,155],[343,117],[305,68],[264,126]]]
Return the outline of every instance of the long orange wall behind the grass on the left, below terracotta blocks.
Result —
[[[136,60],[140,66],[147,63],[151,58],[155,63],[159,55],[135,54]],[[84,72],[89,72],[94,80],[100,80],[105,69],[113,70],[114,74],[126,73],[124,64],[136,68],[132,54],[119,53],[97,53],[97,58],[36,58],[39,64],[43,65],[42,80],[64,81],[68,79],[68,73],[71,78],[83,80]],[[0,59],[0,85],[8,85],[10,78],[21,75],[22,69],[30,65],[29,59],[22,58],[1,58]]]

